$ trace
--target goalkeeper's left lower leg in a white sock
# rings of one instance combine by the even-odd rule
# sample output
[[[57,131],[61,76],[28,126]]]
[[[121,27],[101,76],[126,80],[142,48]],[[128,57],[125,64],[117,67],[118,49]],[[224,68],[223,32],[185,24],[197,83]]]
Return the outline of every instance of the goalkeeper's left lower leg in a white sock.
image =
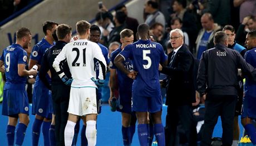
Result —
[[[75,114],[68,114],[68,121],[65,127],[64,137],[65,137],[65,145],[72,145],[73,136],[75,133],[76,122],[78,121],[79,116]]]

